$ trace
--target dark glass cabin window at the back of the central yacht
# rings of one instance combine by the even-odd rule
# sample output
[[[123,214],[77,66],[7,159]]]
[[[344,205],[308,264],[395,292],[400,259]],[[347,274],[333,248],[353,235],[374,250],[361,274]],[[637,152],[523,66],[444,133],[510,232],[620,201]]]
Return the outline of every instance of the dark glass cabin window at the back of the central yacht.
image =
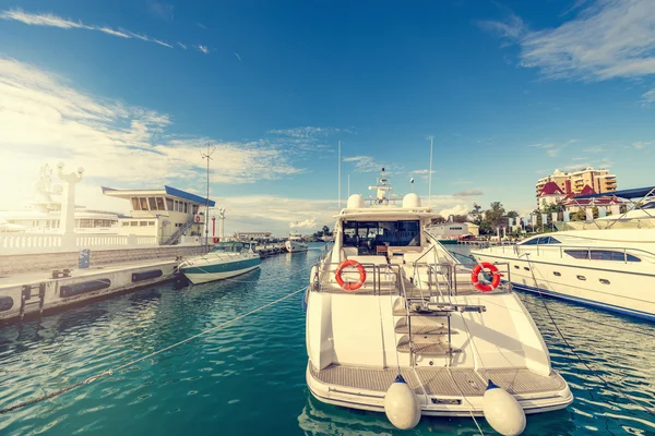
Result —
[[[380,245],[419,246],[419,221],[348,221],[344,223],[344,246],[355,246],[359,254],[374,254],[376,247]]]

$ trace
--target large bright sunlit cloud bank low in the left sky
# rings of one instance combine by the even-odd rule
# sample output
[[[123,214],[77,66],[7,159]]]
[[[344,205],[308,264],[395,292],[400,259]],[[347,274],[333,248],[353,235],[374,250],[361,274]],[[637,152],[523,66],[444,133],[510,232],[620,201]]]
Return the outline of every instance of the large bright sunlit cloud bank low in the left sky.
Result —
[[[214,182],[252,183],[303,171],[265,141],[175,136],[165,113],[82,94],[16,60],[0,58],[0,207],[28,197],[38,167],[59,160],[85,167],[87,182],[96,186],[202,185],[199,150],[206,141],[217,148]]]

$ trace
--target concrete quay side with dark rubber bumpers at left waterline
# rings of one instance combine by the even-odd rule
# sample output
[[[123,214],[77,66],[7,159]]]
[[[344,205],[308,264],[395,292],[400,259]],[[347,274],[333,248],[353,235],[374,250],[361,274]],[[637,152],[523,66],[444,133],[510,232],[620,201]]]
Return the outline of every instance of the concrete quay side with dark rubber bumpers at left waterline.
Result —
[[[151,259],[0,277],[0,324],[169,281],[178,264]]]

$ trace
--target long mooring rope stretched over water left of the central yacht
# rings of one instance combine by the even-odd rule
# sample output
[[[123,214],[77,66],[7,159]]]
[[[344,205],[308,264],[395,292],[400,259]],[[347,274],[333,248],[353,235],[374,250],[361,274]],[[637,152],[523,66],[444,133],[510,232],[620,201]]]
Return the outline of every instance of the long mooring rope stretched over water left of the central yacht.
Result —
[[[229,326],[230,324],[234,324],[234,323],[236,323],[237,320],[243,319],[243,318],[245,318],[245,317],[247,317],[247,316],[250,316],[250,315],[252,315],[252,314],[254,314],[254,313],[261,312],[261,311],[263,311],[264,308],[271,307],[271,306],[273,306],[273,305],[275,305],[275,304],[277,304],[277,303],[279,303],[279,302],[282,302],[282,301],[284,301],[284,300],[287,300],[287,299],[289,299],[289,298],[291,298],[291,296],[294,296],[294,295],[296,295],[296,294],[298,294],[298,293],[300,293],[300,292],[305,291],[306,289],[307,289],[307,287],[302,287],[302,288],[300,288],[300,289],[298,289],[298,290],[296,290],[296,291],[293,291],[293,292],[290,292],[290,293],[288,293],[288,294],[284,295],[284,296],[283,296],[283,298],[281,298],[281,299],[277,299],[277,300],[275,300],[275,301],[272,301],[271,303],[264,304],[263,306],[259,306],[259,307],[257,307],[257,308],[254,308],[254,310],[252,310],[252,311],[250,311],[250,312],[248,312],[248,313],[245,313],[245,314],[242,314],[242,315],[239,315],[239,316],[237,316],[237,317],[235,317],[235,318],[233,318],[233,319],[230,319],[230,320],[227,320],[227,322],[225,322],[225,323],[221,323],[219,325],[217,325],[217,326],[215,326],[215,327],[212,327],[212,328],[209,328],[209,329],[206,329],[206,330],[203,330],[203,331],[199,332],[198,335],[193,335],[193,336],[191,336],[191,337],[189,337],[189,338],[187,338],[187,339],[183,339],[183,340],[181,340],[181,341],[179,341],[179,342],[176,342],[176,343],[174,343],[174,344],[171,344],[171,346],[165,347],[165,348],[163,348],[163,349],[160,349],[160,350],[153,351],[153,352],[152,352],[152,353],[150,353],[150,354],[146,354],[146,355],[144,355],[144,356],[141,356],[141,358],[139,358],[139,359],[135,359],[135,360],[133,360],[133,361],[131,361],[131,362],[124,363],[124,364],[122,364],[122,365],[120,365],[120,366],[118,366],[118,367],[116,367],[116,368],[104,371],[104,372],[102,372],[102,373],[99,373],[99,374],[97,374],[97,375],[95,375],[95,376],[92,376],[92,377],[88,377],[88,378],[86,378],[86,379],[85,379],[85,380],[83,380],[83,382],[79,382],[79,383],[75,383],[75,384],[73,384],[73,385],[67,386],[67,387],[64,387],[64,388],[62,388],[62,389],[59,389],[59,390],[56,390],[56,391],[53,391],[53,392],[47,393],[47,395],[45,395],[45,396],[43,396],[43,397],[34,398],[34,399],[32,399],[32,400],[24,401],[24,402],[21,402],[21,403],[17,403],[17,404],[11,405],[11,407],[9,407],[9,408],[5,408],[5,409],[0,409],[0,414],[9,413],[9,412],[12,412],[12,411],[14,411],[14,410],[16,410],[16,409],[22,409],[22,408],[25,408],[25,407],[27,407],[27,405],[32,405],[32,404],[35,404],[35,403],[37,403],[37,402],[45,401],[45,400],[48,400],[48,399],[50,399],[50,398],[53,398],[53,397],[60,396],[60,395],[62,395],[62,393],[70,392],[71,390],[73,390],[73,389],[76,389],[76,388],[79,388],[80,386],[84,386],[84,385],[91,385],[92,383],[94,383],[94,382],[96,382],[96,380],[98,380],[98,379],[100,379],[100,378],[103,378],[103,377],[105,377],[105,376],[109,376],[109,375],[112,375],[114,373],[116,373],[116,372],[118,372],[118,371],[124,370],[124,368],[127,368],[127,367],[130,367],[130,366],[134,366],[135,364],[138,364],[138,363],[140,363],[140,362],[143,362],[143,361],[145,361],[145,360],[147,360],[147,359],[150,359],[150,358],[154,358],[154,356],[155,356],[155,355],[157,355],[157,354],[162,354],[162,353],[164,353],[164,352],[166,352],[166,351],[168,351],[168,350],[172,350],[172,349],[174,349],[174,348],[176,348],[176,347],[179,347],[179,346],[181,346],[181,344],[183,344],[183,343],[190,342],[190,341],[192,341],[192,340],[194,340],[194,339],[198,339],[198,338],[200,338],[200,337],[202,337],[202,336],[205,336],[205,335],[207,335],[207,334],[210,334],[210,332],[212,332],[212,331],[216,331],[216,330],[219,330],[219,329],[222,329],[223,327]]]

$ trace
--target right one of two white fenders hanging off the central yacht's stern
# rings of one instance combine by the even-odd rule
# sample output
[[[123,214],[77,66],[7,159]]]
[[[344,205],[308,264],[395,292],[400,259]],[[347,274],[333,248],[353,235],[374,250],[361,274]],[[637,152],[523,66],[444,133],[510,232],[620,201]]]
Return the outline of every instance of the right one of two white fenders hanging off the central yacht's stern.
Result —
[[[519,401],[491,380],[483,397],[483,412],[489,425],[501,435],[520,435],[525,429],[525,412]]]

